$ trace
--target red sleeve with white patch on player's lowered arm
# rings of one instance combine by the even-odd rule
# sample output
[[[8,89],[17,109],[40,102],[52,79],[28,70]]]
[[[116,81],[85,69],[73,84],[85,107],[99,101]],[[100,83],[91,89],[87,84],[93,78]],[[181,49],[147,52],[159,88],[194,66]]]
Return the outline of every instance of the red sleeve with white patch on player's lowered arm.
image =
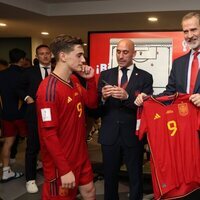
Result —
[[[39,136],[48,153],[51,155],[59,175],[62,176],[71,171],[71,167],[68,165],[57,136],[59,124],[56,101],[47,100],[45,91],[45,87],[40,87],[37,92],[36,105]]]

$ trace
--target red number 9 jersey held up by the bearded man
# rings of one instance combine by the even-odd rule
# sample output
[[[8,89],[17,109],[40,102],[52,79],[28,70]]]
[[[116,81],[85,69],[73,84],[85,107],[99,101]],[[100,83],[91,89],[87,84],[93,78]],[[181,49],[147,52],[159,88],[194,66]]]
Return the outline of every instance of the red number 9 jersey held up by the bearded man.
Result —
[[[147,134],[155,199],[200,187],[200,113],[189,96],[150,97],[143,105],[137,134]]]

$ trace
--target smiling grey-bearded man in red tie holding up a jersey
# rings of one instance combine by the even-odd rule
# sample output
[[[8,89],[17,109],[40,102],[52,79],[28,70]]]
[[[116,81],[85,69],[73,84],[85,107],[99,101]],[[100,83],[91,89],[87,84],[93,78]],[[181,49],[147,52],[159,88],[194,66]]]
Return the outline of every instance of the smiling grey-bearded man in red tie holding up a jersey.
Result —
[[[200,107],[200,14],[191,12],[182,19],[182,29],[184,39],[190,47],[190,52],[173,61],[166,90],[160,95],[170,95],[176,92],[191,94],[190,100],[197,107]],[[193,61],[197,59],[198,70],[194,85],[192,83]],[[135,103],[140,106],[146,94],[138,95]],[[184,199],[196,200],[200,195],[200,190],[188,195]]]

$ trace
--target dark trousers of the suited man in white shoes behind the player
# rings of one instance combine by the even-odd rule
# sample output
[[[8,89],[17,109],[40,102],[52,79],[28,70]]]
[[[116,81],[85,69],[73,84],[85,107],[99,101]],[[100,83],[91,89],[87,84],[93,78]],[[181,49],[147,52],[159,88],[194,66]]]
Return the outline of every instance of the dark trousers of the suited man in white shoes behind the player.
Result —
[[[40,150],[35,104],[28,105],[26,121],[28,135],[25,155],[25,172],[26,181],[29,181],[36,179],[37,156]]]

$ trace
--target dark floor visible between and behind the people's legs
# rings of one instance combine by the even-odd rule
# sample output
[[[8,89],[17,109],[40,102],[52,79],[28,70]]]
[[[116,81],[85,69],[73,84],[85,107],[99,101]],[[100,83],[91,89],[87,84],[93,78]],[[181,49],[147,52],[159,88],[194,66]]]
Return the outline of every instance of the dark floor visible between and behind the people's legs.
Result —
[[[93,139],[88,142],[90,159],[93,165],[95,175],[95,186],[97,200],[103,200],[103,176],[102,176],[102,165],[101,165],[101,151],[100,145],[97,143],[97,135],[93,136]],[[12,165],[14,170],[24,171],[24,150],[25,141],[19,144],[19,150],[16,158],[16,163]],[[153,199],[151,175],[149,169],[149,163],[144,164],[144,198],[143,200]],[[119,183],[119,196],[120,200],[128,200],[128,180],[127,174],[124,167],[120,171],[120,183]],[[29,194],[25,188],[25,177],[20,179],[12,180],[8,183],[0,183],[0,200],[40,200],[41,199],[41,188],[43,182],[42,170],[37,172],[37,185],[39,186],[39,192],[36,194]],[[199,196],[198,196],[199,197]],[[196,198],[198,200],[200,198]],[[79,198],[77,198],[79,199]]]

